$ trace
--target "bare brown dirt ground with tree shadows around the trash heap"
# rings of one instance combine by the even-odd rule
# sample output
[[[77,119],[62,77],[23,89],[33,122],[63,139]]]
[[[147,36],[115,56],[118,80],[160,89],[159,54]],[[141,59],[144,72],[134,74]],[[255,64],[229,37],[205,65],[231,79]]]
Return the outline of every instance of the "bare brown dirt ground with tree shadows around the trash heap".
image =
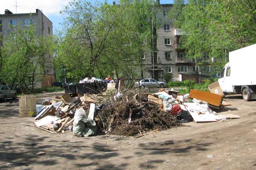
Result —
[[[39,94],[37,102],[60,94]],[[0,103],[0,169],[256,170],[256,101],[244,102],[240,95],[225,100],[231,105],[218,113],[241,119],[189,122],[140,138],[52,134],[20,125],[33,118],[19,117],[18,102]]]

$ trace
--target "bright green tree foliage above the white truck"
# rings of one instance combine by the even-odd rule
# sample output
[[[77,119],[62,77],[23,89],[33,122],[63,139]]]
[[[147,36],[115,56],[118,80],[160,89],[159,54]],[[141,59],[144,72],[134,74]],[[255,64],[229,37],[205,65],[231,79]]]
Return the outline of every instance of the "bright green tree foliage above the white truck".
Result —
[[[255,0],[175,0],[169,17],[186,33],[180,38],[185,56],[200,65],[207,53],[220,74],[230,51],[256,43],[255,9]]]

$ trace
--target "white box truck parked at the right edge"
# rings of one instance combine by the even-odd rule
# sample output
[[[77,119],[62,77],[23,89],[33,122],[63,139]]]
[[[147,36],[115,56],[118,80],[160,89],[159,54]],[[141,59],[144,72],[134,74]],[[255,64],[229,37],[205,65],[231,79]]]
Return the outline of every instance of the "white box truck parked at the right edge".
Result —
[[[256,44],[231,51],[218,82],[224,93],[240,93],[245,101],[256,99]]]

